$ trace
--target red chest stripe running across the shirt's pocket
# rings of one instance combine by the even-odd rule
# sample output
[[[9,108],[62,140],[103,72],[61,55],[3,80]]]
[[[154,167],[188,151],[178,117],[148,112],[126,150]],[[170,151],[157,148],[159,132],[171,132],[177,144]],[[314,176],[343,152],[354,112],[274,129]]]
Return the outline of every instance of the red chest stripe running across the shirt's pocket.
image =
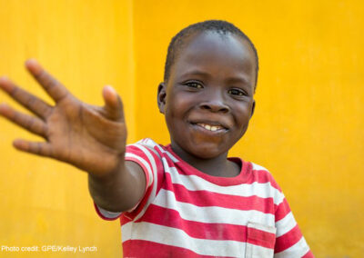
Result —
[[[190,237],[198,239],[247,242],[248,231],[246,226],[187,221],[181,218],[177,211],[154,204],[151,204],[148,207],[147,213],[145,213],[143,218],[137,222],[155,223],[158,225],[177,228],[183,230]],[[252,228],[249,228],[249,233],[252,233],[252,243],[273,249],[275,234]]]

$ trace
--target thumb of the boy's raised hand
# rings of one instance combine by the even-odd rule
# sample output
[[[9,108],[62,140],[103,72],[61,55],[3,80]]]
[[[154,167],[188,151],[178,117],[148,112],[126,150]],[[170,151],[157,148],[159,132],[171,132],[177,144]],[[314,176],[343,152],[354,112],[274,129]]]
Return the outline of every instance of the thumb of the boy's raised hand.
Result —
[[[103,96],[106,116],[116,121],[124,121],[123,103],[116,90],[112,86],[107,85],[103,89]]]

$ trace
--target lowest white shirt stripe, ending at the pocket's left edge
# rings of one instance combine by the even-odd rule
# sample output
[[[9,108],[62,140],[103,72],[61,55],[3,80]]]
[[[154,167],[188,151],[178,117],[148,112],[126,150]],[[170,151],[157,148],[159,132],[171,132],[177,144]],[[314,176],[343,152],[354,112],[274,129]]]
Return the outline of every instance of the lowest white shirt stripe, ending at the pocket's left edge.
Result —
[[[163,243],[188,249],[200,255],[243,257],[245,253],[246,243],[193,238],[183,230],[154,223],[133,223],[133,225],[126,223],[121,230],[123,233],[133,230],[133,233],[126,233],[132,237],[123,238],[123,242],[145,240]]]

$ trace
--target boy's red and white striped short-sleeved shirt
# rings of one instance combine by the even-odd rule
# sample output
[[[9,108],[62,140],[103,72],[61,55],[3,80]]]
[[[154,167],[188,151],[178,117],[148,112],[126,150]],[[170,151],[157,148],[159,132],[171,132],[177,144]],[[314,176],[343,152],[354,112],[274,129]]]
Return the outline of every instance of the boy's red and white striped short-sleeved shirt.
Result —
[[[125,257],[314,257],[284,194],[267,169],[244,162],[236,177],[204,174],[170,145],[144,139],[126,160],[147,178],[144,198],[120,215]]]

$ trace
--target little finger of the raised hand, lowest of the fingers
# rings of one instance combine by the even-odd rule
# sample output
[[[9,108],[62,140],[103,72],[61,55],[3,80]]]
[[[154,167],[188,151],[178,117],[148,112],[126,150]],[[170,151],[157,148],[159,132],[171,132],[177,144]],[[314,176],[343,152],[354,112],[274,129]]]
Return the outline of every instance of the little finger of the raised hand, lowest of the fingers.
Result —
[[[23,139],[16,139],[13,142],[13,145],[17,150],[25,153],[53,157],[52,146],[48,143],[30,142]]]

